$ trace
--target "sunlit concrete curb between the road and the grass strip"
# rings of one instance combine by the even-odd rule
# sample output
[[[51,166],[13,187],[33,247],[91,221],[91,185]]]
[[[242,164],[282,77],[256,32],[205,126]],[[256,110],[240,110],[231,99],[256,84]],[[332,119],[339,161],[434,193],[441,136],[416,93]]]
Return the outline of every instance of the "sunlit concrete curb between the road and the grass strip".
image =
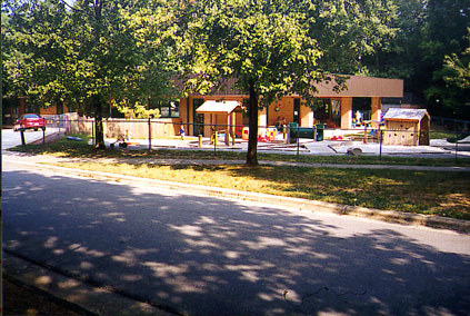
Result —
[[[54,170],[54,171],[61,171],[67,175],[81,176],[81,177],[88,177],[88,178],[106,180],[106,181],[114,181],[120,184],[133,185],[136,182],[139,182],[142,185],[158,186],[158,187],[163,187],[163,188],[173,189],[173,190],[184,189],[186,191],[191,191],[191,192],[202,194],[202,195],[208,195],[213,197],[250,200],[250,201],[257,201],[257,203],[267,203],[267,204],[273,204],[277,206],[298,208],[298,209],[310,210],[310,211],[322,211],[322,213],[329,213],[329,214],[336,214],[336,215],[351,215],[351,216],[370,218],[370,219],[388,221],[388,223],[426,226],[426,227],[441,228],[441,229],[451,229],[459,233],[470,233],[470,220],[459,220],[459,219],[446,218],[440,216],[428,216],[428,215],[420,215],[420,214],[400,213],[400,211],[393,211],[393,210],[382,210],[382,209],[374,209],[374,208],[347,206],[347,205],[308,200],[308,199],[301,199],[301,198],[282,197],[282,196],[273,196],[273,195],[267,195],[267,194],[209,187],[209,186],[198,186],[198,185],[189,185],[189,184],[182,184],[182,182],[163,181],[163,180],[157,180],[157,179],[147,179],[147,178],[139,178],[139,177],[117,175],[117,174],[102,172],[102,171],[72,169],[72,168],[48,166],[48,165],[40,165],[40,164],[26,162],[26,161],[23,162],[9,161],[9,164],[12,164],[12,165],[17,164],[22,167],[30,166],[30,167],[34,167],[36,170],[38,169]]]

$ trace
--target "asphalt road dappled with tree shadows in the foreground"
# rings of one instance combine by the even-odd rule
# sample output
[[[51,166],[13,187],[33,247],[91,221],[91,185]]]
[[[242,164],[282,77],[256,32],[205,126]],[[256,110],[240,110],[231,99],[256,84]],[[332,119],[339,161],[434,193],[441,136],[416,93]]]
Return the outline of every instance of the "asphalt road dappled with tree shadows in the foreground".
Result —
[[[3,248],[187,315],[468,315],[470,236],[3,164]]]

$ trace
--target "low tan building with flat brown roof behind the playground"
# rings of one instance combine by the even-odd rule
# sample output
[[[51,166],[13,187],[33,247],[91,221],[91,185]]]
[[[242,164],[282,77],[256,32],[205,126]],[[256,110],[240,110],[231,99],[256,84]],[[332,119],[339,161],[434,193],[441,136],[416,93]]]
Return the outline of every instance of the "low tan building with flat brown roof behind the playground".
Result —
[[[297,122],[301,127],[312,127],[314,124],[326,124],[328,128],[354,128],[357,111],[371,121],[381,120],[381,99],[402,98],[403,80],[383,79],[373,77],[351,76],[346,82],[344,91],[333,91],[333,83],[317,86],[319,107],[313,111],[303,106],[299,96],[283,97],[280,101],[263,108],[258,115],[259,127],[277,126],[279,124]],[[242,105],[248,103],[248,95],[233,90],[234,80],[228,80],[224,89],[210,96],[191,95],[179,102],[181,124],[188,125],[188,135],[209,136],[211,126],[227,125],[227,116],[213,116],[197,112],[197,109],[207,100],[238,101],[234,124],[247,126]]]

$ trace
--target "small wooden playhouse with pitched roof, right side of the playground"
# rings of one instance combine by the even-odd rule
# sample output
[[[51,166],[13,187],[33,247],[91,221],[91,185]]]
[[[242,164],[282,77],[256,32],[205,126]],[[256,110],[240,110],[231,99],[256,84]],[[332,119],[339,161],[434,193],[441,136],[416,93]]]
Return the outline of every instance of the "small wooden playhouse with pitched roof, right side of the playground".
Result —
[[[383,117],[383,145],[428,146],[431,118],[424,109],[391,108]]]

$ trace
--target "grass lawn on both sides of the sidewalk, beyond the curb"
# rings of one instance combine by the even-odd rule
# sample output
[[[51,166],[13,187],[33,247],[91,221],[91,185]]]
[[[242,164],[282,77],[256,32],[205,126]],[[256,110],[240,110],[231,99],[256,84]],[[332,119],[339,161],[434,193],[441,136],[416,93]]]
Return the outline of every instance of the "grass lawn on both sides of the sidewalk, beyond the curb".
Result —
[[[299,197],[344,205],[470,219],[470,172],[434,172],[389,169],[339,169],[259,166],[153,166],[158,158],[241,159],[244,152],[183,150],[94,150],[83,141],[61,139],[28,146],[29,152],[81,158],[149,158],[149,164],[64,162],[59,166],[207,185],[246,191]],[[259,159],[330,162],[453,166],[453,159],[387,157],[304,157],[260,154]],[[459,159],[470,166],[468,159]]]

